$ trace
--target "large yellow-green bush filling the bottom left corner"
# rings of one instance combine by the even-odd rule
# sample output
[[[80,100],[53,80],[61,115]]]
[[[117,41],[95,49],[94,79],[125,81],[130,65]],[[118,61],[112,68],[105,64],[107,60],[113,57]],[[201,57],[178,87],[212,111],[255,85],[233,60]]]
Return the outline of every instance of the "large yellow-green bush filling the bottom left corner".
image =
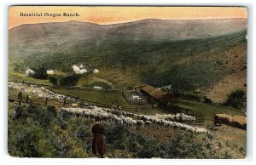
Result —
[[[9,129],[8,148],[11,156],[51,157],[54,153],[45,130],[30,119]]]

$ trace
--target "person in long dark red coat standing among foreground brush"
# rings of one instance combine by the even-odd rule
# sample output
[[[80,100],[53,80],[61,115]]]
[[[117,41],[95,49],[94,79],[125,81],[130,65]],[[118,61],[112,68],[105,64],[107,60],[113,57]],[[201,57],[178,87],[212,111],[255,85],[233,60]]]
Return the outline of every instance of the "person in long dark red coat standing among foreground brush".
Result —
[[[96,124],[92,126],[91,132],[93,134],[92,139],[92,152],[101,158],[106,153],[106,145],[103,140],[104,127],[101,123],[101,117],[96,117]]]

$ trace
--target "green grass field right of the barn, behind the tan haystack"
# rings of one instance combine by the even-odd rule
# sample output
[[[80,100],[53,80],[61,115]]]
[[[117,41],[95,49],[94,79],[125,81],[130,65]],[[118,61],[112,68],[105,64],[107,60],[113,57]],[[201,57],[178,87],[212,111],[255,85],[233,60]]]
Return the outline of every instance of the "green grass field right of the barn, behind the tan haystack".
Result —
[[[187,111],[187,114],[196,116],[196,117],[203,117],[206,121],[212,121],[213,117],[217,113],[225,113],[231,116],[234,115],[241,115],[245,116],[245,113],[237,110],[235,108],[232,108],[230,106],[224,106],[224,105],[217,105],[217,104],[207,104],[202,102],[196,102],[191,100],[179,100],[178,105],[189,109],[190,111]]]

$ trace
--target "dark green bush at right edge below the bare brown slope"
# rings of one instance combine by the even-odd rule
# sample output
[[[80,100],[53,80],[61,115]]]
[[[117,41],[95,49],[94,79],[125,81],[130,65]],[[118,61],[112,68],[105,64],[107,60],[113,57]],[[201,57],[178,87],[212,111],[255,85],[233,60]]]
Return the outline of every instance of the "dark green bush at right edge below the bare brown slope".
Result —
[[[242,90],[236,90],[228,95],[228,100],[224,103],[224,105],[232,106],[236,109],[242,109],[244,107],[245,92]]]

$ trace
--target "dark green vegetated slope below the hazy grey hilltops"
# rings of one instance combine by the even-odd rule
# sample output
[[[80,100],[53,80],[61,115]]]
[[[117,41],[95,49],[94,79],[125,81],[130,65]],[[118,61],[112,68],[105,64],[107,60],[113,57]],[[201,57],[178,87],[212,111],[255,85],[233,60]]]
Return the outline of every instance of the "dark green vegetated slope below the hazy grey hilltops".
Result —
[[[113,69],[132,70],[141,82],[156,87],[171,84],[173,88],[188,91],[216,83],[224,77],[228,71],[216,65],[219,61],[214,60],[213,54],[221,54],[224,49],[236,45],[243,47],[245,35],[246,31],[241,31],[222,37],[165,43],[116,41],[95,48],[81,46],[65,53],[34,54],[35,58],[28,57],[23,65],[70,71],[71,65],[83,61],[110,72]]]

